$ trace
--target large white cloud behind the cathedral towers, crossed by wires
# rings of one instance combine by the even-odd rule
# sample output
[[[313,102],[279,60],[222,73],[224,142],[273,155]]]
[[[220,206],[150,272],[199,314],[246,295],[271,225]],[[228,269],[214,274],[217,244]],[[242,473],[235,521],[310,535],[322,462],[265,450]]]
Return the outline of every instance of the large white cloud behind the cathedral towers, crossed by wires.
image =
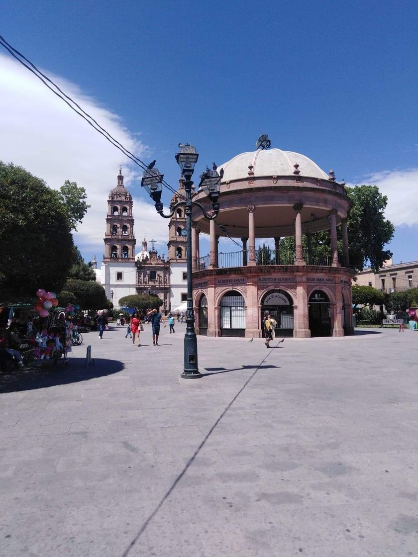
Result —
[[[42,71],[42,70],[41,70]],[[130,133],[119,116],[82,93],[80,88],[59,76],[57,85],[98,123],[139,158],[149,158],[149,148]],[[82,253],[103,254],[107,198],[116,185],[119,164],[123,164],[125,185],[134,197],[135,236],[141,249],[144,234],[159,240],[159,251],[168,240],[164,219],[152,204],[138,198],[139,167],[129,167],[129,159],[62,100],[48,90],[31,72],[11,57],[0,54],[0,159],[26,168],[43,178],[51,188],[60,188],[66,179],[83,186],[91,204],[74,241]]]

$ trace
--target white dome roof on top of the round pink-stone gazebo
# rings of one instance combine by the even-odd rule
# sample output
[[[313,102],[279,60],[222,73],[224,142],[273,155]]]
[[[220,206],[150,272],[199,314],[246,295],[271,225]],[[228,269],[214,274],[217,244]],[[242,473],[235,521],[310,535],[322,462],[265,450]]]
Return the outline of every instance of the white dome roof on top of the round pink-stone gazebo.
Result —
[[[249,166],[252,167],[254,177],[264,176],[293,176],[298,164],[300,176],[329,180],[329,175],[321,170],[313,160],[300,153],[282,151],[281,149],[264,149],[250,151],[236,155],[233,159],[218,166],[223,168],[222,183],[227,180],[249,178]]]

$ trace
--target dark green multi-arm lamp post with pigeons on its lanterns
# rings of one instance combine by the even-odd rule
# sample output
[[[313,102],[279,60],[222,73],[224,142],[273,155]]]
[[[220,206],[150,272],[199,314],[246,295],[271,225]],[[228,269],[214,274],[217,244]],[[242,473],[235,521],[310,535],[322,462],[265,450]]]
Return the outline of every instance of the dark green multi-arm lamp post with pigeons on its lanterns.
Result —
[[[221,178],[223,169],[220,174],[217,173],[215,166],[213,170],[206,169],[201,175],[199,188],[206,193],[212,201],[212,214],[206,213],[200,203],[192,201],[192,174],[195,164],[199,157],[196,147],[188,143],[179,145],[180,152],[176,154],[176,161],[181,168],[184,177],[184,190],[186,198],[177,202],[170,214],[163,213],[163,204],[161,203],[163,174],[159,173],[157,168],[148,168],[144,171],[141,185],[147,190],[150,197],[155,203],[155,209],[163,218],[171,218],[180,206],[184,206],[186,213],[186,259],[187,259],[187,312],[186,312],[186,334],[184,335],[184,369],[181,377],[184,379],[196,379],[202,377],[199,373],[197,365],[197,338],[195,333],[195,313],[193,311],[193,292],[192,292],[192,207],[198,207],[203,216],[208,220],[217,217],[219,212],[218,197],[221,188]]]

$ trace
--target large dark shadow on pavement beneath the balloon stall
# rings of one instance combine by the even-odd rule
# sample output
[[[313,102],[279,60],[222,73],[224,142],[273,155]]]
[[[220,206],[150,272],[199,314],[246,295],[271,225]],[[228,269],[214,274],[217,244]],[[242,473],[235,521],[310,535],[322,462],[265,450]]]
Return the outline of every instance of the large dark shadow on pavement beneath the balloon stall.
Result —
[[[44,389],[55,385],[88,381],[124,369],[124,364],[118,360],[95,358],[94,361],[95,365],[87,366],[85,358],[71,358],[65,366],[57,364],[51,367],[10,369],[7,372],[0,372],[0,393]]]

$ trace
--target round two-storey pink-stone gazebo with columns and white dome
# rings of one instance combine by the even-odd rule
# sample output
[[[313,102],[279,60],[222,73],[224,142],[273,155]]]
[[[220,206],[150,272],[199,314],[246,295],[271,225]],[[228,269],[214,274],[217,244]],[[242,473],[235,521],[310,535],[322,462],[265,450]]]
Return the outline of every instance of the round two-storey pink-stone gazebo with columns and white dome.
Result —
[[[282,336],[344,336],[353,333],[347,212],[344,182],[305,155],[280,149],[241,153],[220,165],[221,211],[215,221],[192,213],[193,304],[196,331],[208,336],[263,335],[268,310]],[[207,212],[210,199],[193,200]],[[337,227],[343,250],[338,253]],[[311,235],[330,231],[330,257],[315,257]],[[200,234],[209,234],[210,253],[201,257]],[[306,235],[307,250],[302,238]],[[219,237],[242,248],[218,253]],[[280,238],[294,236],[295,253],[280,253]],[[257,253],[256,238],[274,249]]]

